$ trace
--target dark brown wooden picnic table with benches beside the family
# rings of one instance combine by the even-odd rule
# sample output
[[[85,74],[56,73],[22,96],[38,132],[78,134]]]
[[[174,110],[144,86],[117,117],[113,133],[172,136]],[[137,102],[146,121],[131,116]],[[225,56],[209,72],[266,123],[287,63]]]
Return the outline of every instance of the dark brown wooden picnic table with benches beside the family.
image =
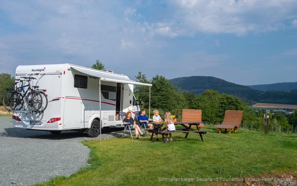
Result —
[[[164,123],[153,122],[152,124],[153,124],[154,128],[152,130],[148,130],[148,132],[152,133],[150,140],[153,139],[154,134],[160,134],[160,135],[162,135],[163,142],[166,143],[164,136],[168,135],[169,133],[186,133],[185,138],[187,138],[188,134],[190,132],[193,132],[193,133],[199,133],[201,140],[204,142],[202,134],[206,134],[207,132],[210,132],[210,131],[209,130],[200,130],[199,129],[200,123],[202,123],[202,122],[199,122],[199,121],[174,122],[174,125],[181,125],[184,128],[176,128],[174,132],[168,132],[168,131],[166,131],[165,127],[162,129],[162,126],[164,125]],[[196,126],[196,130],[191,129],[192,126]],[[160,131],[155,131],[156,128],[159,128]],[[182,130],[182,131],[180,131],[180,130]]]

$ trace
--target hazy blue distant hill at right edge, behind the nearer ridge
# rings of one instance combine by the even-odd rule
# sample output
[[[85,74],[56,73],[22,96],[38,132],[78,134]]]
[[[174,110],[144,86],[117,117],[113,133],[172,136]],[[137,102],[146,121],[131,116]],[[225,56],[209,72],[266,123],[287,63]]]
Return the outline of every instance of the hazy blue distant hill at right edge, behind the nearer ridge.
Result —
[[[289,91],[292,89],[297,89],[297,82],[294,83],[274,83],[274,84],[259,84],[259,85],[247,85],[250,88],[267,91],[267,90],[281,90]]]

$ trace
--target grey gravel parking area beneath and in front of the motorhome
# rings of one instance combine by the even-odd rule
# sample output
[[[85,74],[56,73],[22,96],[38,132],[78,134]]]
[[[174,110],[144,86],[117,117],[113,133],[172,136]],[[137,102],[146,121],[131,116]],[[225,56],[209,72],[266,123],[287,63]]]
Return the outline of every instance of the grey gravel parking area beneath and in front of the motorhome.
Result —
[[[119,137],[122,132],[105,129],[102,138]],[[11,116],[0,116],[0,185],[30,185],[58,175],[69,176],[87,165],[89,148],[81,141],[93,139],[100,137],[13,128]]]

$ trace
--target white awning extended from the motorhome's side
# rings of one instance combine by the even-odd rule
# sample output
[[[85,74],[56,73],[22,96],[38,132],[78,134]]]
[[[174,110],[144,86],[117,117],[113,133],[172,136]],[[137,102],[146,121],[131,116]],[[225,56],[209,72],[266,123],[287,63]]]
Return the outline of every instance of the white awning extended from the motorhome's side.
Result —
[[[111,74],[110,72],[103,72],[103,71],[92,70],[92,69],[86,70],[83,68],[78,68],[78,67],[73,67],[73,66],[71,66],[71,68],[74,70],[77,70],[81,73],[98,77],[98,78],[100,78],[101,81],[135,84],[135,85],[143,85],[143,86],[152,86],[152,84],[141,83],[138,81],[130,80],[127,76],[120,75],[120,74]]]

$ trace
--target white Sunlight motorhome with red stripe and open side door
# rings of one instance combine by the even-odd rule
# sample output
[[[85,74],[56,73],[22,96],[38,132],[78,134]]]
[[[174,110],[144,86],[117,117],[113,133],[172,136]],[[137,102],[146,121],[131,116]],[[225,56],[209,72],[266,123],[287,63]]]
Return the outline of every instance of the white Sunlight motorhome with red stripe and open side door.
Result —
[[[18,66],[15,78],[21,77],[37,78],[32,85],[46,90],[48,106],[43,112],[15,110],[14,127],[52,134],[77,130],[90,137],[100,134],[100,126],[122,127],[119,112],[139,110],[134,85],[151,86],[111,71],[71,64]]]

